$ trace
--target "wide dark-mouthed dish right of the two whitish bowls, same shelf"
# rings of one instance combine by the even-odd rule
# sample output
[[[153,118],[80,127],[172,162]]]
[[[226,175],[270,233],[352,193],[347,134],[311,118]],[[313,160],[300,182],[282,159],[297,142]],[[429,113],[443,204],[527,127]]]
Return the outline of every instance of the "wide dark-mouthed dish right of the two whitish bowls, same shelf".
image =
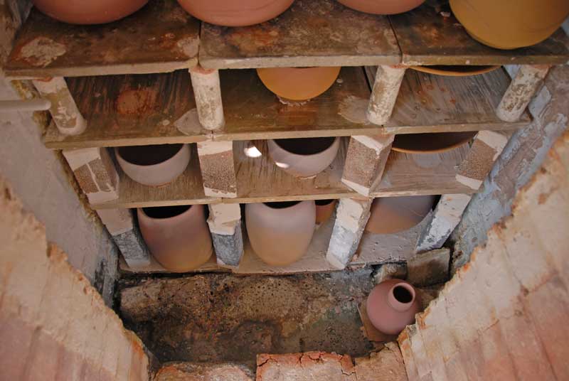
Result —
[[[440,132],[436,134],[399,134],[391,149],[407,154],[435,154],[467,144],[477,132]]]

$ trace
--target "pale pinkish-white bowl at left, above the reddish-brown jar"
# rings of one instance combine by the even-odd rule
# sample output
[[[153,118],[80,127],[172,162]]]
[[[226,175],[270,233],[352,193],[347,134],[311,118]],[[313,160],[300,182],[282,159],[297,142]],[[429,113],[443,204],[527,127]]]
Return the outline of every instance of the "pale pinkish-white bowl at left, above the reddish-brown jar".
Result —
[[[145,186],[171,183],[184,173],[190,162],[188,144],[117,147],[115,154],[122,171]]]

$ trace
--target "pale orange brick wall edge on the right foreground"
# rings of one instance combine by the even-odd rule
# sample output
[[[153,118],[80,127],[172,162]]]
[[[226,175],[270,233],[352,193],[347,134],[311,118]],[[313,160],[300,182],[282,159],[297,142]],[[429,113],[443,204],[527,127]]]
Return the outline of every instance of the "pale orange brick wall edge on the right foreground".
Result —
[[[569,380],[569,133],[398,338],[409,380]]]

